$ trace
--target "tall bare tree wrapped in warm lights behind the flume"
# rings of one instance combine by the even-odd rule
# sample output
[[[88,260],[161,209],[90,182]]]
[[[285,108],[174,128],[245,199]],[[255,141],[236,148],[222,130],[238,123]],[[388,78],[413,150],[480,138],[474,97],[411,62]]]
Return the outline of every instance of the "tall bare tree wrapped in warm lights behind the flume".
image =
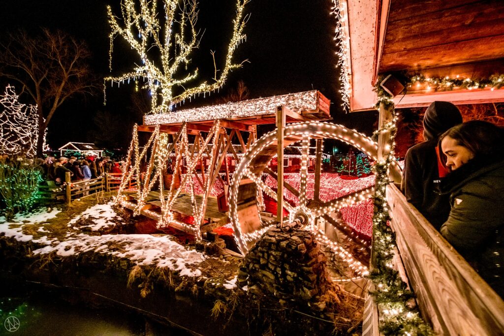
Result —
[[[158,9],[158,3],[163,9]],[[233,34],[225,57],[224,69],[217,70],[215,52],[214,78],[190,87],[198,76],[198,68],[191,72],[188,65],[191,53],[199,47],[200,37],[196,28],[198,8],[196,0],[123,0],[122,19],[108,7],[110,27],[110,71],[112,71],[113,40],[121,36],[138,54],[140,65],[133,71],[118,77],[107,77],[106,81],[122,83],[142,78],[146,82],[152,99],[151,113],[166,113],[177,103],[197,94],[214,91],[224,85],[230,71],[243,64],[233,62],[233,54],[245,39],[243,28],[248,16],[243,16],[243,8],[248,0],[237,0],[236,17],[233,20]],[[122,21],[122,23],[119,23]],[[181,70],[182,69],[182,70]]]

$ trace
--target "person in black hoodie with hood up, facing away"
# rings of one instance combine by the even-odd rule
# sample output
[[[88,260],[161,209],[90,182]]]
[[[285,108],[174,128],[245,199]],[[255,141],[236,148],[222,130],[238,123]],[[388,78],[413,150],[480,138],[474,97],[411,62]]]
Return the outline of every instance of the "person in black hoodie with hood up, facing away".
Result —
[[[424,142],[406,153],[401,189],[406,200],[439,230],[450,213],[449,195],[439,193],[439,182],[447,171],[438,159],[437,139],[449,128],[460,124],[462,115],[450,102],[435,101],[423,116]]]

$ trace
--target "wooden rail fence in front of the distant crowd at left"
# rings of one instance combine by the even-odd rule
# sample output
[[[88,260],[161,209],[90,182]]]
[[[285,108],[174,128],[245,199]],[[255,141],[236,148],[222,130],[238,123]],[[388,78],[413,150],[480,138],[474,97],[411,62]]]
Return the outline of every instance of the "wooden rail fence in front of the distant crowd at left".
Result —
[[[71,181],[70,173],[65,175],[65,184],[58,186],[39,185],[38,194],[40,203],[49,203],[54,201],[64,201],[70,204],[73,199],[91,196],[100,191],[112,191],[119,188],[121,183],[121,173],[105,173],[103,176],[85,181]],[[128,181],[128,187],[134,188],[137,185],[135,177]]]

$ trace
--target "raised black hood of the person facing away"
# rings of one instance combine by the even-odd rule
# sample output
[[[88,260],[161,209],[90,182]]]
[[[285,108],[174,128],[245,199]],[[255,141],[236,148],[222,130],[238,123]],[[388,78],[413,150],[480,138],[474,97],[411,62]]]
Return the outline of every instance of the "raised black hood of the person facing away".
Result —
[[[437,139],[442,133],[459,123],[462,123],[462,115],[457,106],[447,101],[432,102],[423,116],[425,141]]]

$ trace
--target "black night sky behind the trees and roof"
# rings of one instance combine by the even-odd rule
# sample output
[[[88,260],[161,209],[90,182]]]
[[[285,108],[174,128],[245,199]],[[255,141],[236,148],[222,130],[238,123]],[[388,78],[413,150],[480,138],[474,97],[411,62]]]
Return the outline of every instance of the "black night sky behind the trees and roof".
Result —
[[[40,27],[61,29],[85,40],[93,54],[92,66],[100,76],[108,75],[108,33],[106,5],[118,8],[119,0],[17,0],[4,2],[0,11],[0,38],[7,32],[23,28],[37,33]],[[328,97],[331,115],[338,123],[370,133],[376,113],[345,114],[340,107],[338,94],[338,69],[334,45],[334,17],[330,15],[330,0],[251,0],[245,10],[251,14],[245,27],[246,43],[240,45],[235,59],[248,59],[240,70],[227,81],[224,90],[243,80],[250,91],[250,98],[317,89]],[[212,74],[210,50],[224,52],[230,35],[234,0],[200,0],[199,26],[205,30],[200,49],[193,57],[202,69],[201,79]],[[119,14],[119,11],[115,11]],[[226,35],[227,34],[227,35]],[[133,63],[136,59],[121,54],[124,43],[117,40],[114,64]],[[124,49],[127,50],[127,49]],[[122,56],[122,58],[120,57]],[[119,71],[114,72],[115,75]],[[80,98],[61,106],[49,124],[48,142],[57,148],[68,141],[90,141],[90,130],[96,128],[93,117],[98,110],[108,110],[117,122],[131,120],[128,110],[129,92],[125,86],[107,89],[107,105],[103,106],[101,91],[96,97],[83,101]],[[212,96],[215,99],[215,96]],[[198,101],[209,104],[212,100]],[[187,106],[189,107],[189,106]],[[134,117],[133,117],[134,118]],[[141,122],[141,120],[137,120]],[[131,132],[131,129],[124,129]],[[121,145],[118,143],[117,145]],[[327,147],[326,147],[327,148]]]

